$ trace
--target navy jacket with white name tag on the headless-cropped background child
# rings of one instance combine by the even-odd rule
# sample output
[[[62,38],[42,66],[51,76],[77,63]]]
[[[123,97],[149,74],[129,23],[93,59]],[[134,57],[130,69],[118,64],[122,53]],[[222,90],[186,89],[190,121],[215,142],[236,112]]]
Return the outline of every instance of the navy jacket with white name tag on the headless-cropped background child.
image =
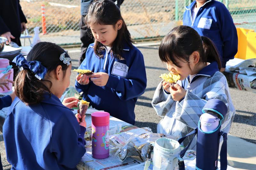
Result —
[[[222,67],[226,67],[228,60],[233,59],[237,53],[238,38],[236,26],[224,4],[208,0],[200,7],[194,22],[192,12],[196,1],[185,7],[183,25],[191,26],[199,35],[210,38],[220,55]]]

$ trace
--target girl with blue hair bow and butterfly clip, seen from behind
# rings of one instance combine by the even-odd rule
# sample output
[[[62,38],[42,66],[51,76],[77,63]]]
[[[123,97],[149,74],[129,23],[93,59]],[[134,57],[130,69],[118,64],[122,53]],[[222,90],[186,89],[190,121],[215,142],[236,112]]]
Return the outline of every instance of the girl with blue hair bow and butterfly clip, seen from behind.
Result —
[[[85,116],[68,108],[77,99],[59,100],[70,83],[71,58],[60,46],[39,42],[27,60],[18,55],[12,62],[23,67],[3,126],[12,169],[76,169],[85,153]]]

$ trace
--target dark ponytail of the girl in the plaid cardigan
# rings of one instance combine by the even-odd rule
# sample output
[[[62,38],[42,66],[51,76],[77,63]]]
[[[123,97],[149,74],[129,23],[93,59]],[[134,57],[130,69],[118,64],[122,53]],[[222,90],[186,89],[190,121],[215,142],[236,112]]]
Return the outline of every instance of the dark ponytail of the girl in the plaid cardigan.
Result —
[[[205,37],[201,36],[201,39],[203,41],[203,49],[204,49],[204,61],[203,62],[209,62],[212,63],[216,61],[218,63],[219,70],[221,69],[221,62],[220,62],[220,55],[218,54],[217,48],[213,44],[213,42]]]

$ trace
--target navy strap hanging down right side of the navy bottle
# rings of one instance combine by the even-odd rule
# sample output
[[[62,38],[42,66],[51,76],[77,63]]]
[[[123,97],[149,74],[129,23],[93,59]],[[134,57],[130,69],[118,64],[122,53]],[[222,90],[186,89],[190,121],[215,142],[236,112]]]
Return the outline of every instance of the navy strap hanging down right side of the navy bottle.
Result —
[[[227,133],[223,131],[220,132],[220,135],[223,136],[223,143],[220,149],[220,170],[227,170],[228,160],[227,160]]]

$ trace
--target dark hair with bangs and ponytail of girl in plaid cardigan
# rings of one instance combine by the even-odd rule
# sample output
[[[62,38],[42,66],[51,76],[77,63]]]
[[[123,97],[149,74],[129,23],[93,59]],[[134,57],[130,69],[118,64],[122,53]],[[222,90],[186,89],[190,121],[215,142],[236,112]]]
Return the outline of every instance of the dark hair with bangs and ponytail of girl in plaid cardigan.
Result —
[[[160,44],[159,57],[163,62],[172,61],[173,64],[180,67],[176,60],[185,60],[189,63],[189,56],[194,51],[199,52],[199,62],[206,65],[207,62],[216,61],[220,70],[220,56],[213,42],[205,36],[200,36],[190,26],[173,28]]]

